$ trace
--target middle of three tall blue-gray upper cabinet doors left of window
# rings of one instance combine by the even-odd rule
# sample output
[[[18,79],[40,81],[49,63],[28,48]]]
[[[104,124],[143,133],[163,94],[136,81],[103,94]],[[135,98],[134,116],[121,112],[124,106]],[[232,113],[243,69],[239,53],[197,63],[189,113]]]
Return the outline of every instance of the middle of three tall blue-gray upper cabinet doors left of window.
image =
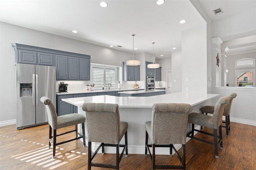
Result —
[[[68,79],[79,80],[79,58],[68,57]]]

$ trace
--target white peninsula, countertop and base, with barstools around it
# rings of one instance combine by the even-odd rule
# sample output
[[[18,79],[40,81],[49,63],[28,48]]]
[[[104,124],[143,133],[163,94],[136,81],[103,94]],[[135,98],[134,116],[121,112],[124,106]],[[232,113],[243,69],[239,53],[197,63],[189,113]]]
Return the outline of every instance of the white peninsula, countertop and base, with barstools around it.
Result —
[[[149,97],[118,97],[118,96],[90,96],[80,98],[66,98],[62,101],[78,107],[78,114],[84,115],[82,110],[84,103],[112,103],[119,105],[120,121],[128,122],[128,153],[129,154],[144,154],[145,152],[145,122],[151,121],[152,105],[155,103],[186,103],[190,104],[193,112],[199,112],[200,107],[212,105],[212,99],[219,94],[200,94],[200,93],[172,93]],[[188,124],[188,131],[190,125]],[[79,128],[81,129],[81,127]],[[87,127],[86,136],[87,136]],[[81,130],[80,130],[81,131]],[[87,138],[86,138],[87,139]],[[88,141],[86,140],[86,143]],[[124,143],[122,139],[121,144]],[[174,145],[175,146],[175,145]],[[98,143],[93,143],[92,148],[96,149]],[[177,149],[180,145],[175,146]],[[106,147],[106,152],[115,153],[116,150],[112,147]],[[158,148],[156,154],[169,154],[168,149]]]

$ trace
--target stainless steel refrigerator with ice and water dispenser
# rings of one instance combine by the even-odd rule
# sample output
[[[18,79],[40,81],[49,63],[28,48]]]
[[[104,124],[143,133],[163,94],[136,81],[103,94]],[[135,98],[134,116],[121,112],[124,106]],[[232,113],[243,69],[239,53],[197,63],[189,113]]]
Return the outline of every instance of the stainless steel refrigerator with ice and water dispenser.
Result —
[[[16,64],[16,129],[48,122],[40,98],[47,96],[56,104],[55,72],[54,66]]]

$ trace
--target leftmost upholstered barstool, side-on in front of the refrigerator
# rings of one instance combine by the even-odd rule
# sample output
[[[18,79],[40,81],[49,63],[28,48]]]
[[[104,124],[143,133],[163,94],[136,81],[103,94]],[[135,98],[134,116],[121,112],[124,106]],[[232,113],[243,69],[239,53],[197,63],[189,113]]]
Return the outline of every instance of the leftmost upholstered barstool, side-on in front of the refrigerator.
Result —
[[[83,115],[79,115],[78,113],[71,113],[67,115],[62,115],[62,116],[57,116],[56,113],[56,107],[52,103],[52,101],[43,96],[41,99],[41,102],[45,104],[46,110],[47,110],[47,115],[48,115],[48,123],[49,123],[49,149],[51,148],[51,145],[53,145],[53,153],[52,153],[52,158],[55,158],[55,150],[57,145],[61,145],[63,143],[71,142],[77,139],[83,138],[83,143],[84,147],[86,146],[85,144],[85,132],[84,132],[84,122],[85,122],[85,117]],[[82,134],[80,134],[77,130],[77,125],[82,124]],[[57,129],[63,128],[63,127],[68,127],[75,125],[75,129],[72,131],[68,131],[65,133],[57,134]],[[52,136],[52,129],[53,129],[53,136]],[[56,143],[56,137],[60,135],[65,135],[67,133],[71,132],[76,132],[76,137],[73,139],[69,139],[67,141],[62,141],[59,143]],[[78,137],[79,135],[79,137]],[[52,141],[53,138],[53,141]]]

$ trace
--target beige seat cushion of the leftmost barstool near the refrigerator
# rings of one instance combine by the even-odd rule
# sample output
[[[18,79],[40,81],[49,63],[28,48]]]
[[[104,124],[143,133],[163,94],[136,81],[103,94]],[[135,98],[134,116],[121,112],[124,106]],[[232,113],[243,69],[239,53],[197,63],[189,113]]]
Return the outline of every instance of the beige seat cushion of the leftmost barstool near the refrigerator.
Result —
[[[85,117],[78,113],[71,113],[67,115],[58,116],[56,129],[84,123],[85,120]]]

